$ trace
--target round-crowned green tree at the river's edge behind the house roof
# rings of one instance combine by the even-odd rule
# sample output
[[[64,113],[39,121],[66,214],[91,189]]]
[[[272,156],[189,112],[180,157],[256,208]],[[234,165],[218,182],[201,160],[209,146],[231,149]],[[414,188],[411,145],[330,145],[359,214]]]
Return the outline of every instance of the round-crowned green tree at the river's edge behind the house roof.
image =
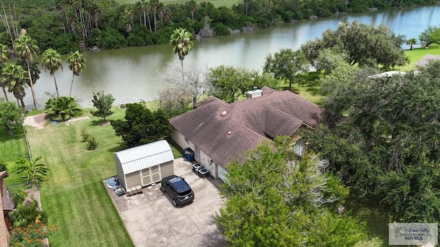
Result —
[[[274,75],[278,79],[289,80],[289,90],[299,73],[309,72],[309,62],[303,51],[292,51],[292,49],[281,49],[274,56],[266,57],[263,71]]]

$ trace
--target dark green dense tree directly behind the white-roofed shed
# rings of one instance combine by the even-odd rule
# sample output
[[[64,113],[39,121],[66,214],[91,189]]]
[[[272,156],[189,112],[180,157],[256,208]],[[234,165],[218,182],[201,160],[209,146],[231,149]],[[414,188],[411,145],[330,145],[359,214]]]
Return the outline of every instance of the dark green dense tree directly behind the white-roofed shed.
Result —
[[[140,103],[126,104],[124,119],[111,120],[118,137],[129,147],[135,147],[167,137],[172,130],[162,110],[151,112]]]

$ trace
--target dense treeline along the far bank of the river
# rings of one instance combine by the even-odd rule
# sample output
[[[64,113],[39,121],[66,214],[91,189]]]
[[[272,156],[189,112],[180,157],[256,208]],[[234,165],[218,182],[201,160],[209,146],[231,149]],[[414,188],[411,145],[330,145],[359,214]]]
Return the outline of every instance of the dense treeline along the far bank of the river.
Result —
[[[231,30],[265,28],[280,22],[364,12],[371,8],[434,5],[437,0],[243,0],[232,7],[187,1],[165,5],[159,0],[134,4],[92,0],[3,0],[0,43],[11,45],[22,29],[43,51],[61,54],[98,47],[118,49],[169,43],[177,27],[192,34],[230,34]]]

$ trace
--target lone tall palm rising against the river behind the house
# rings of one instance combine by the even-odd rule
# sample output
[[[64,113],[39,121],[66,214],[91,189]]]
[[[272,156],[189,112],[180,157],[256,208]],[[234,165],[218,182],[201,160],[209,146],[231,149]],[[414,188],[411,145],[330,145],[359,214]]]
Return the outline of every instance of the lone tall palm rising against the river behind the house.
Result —
[[[181,62],[181,78],[184,79],[184,59],[192,49],[192,34],[184,28],[177,28],[171,34],[170,45],[173,46],[174,54],[179,56]]]

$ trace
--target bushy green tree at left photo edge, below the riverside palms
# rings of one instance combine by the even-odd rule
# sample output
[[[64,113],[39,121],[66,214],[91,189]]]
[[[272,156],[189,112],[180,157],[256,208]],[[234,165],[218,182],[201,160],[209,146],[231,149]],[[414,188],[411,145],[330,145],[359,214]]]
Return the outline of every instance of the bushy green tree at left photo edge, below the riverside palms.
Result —
[[[0,125],[13,136],[14,132],[12,132],[12,129],[20,127],[22,123],[23,108],[20,108],[13,102],[6,102],[5,99],[0,98]]]

